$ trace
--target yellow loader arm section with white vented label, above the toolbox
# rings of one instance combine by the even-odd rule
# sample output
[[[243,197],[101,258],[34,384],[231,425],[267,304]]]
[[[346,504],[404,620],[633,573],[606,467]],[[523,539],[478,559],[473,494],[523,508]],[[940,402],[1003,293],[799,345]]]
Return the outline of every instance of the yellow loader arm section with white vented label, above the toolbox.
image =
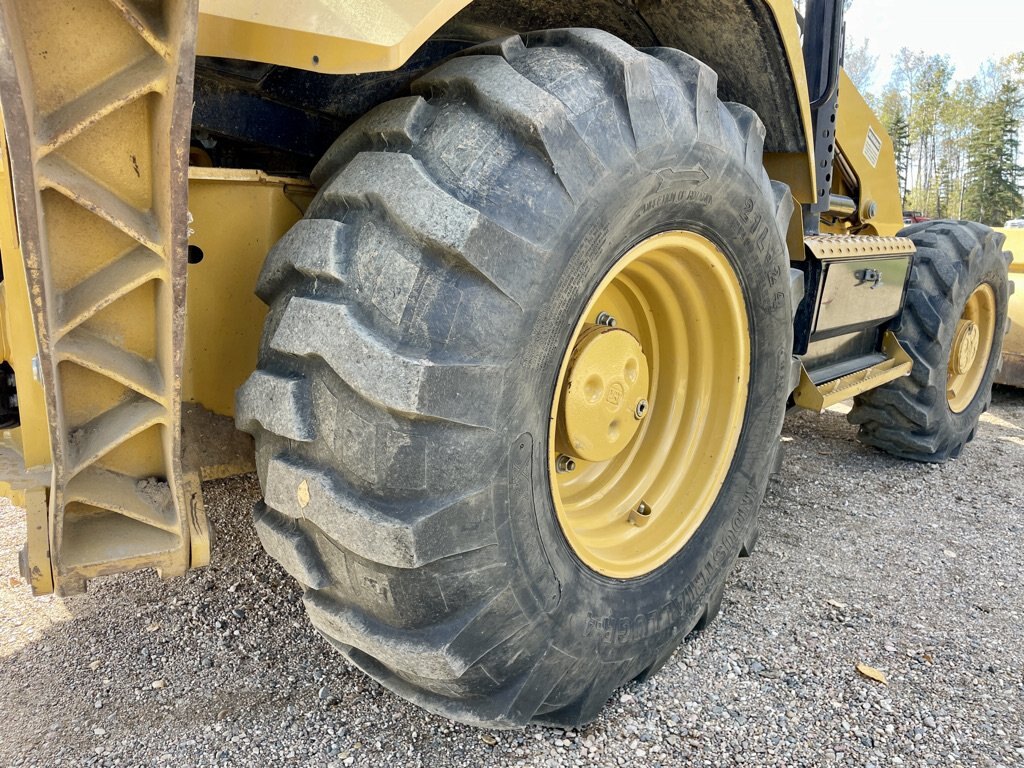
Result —
[[[840,72],[839,94],[836,144],[857,176],[858,216],[873,230],[861,233],[891,237],[903,228],[893,142],[845,71]]]

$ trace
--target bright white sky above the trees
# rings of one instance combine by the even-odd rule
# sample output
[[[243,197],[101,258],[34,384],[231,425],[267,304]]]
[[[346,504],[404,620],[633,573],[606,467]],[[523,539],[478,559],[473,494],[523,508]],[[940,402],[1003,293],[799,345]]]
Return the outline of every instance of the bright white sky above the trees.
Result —
[[[1024,0],[853,0],[846,31],[858,45],[867,38],[879,57],[871,90],[889,82],[904,46],[949,54],[964,80],[988,58],[1024,50]]]

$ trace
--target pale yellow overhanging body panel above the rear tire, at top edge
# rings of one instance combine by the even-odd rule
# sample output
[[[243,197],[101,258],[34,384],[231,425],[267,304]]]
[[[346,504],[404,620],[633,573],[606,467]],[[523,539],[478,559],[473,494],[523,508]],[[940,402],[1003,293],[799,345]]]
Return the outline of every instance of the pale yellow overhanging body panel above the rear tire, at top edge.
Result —
[[[394,70],[470,0],[201,0],[197,53],[331,75]]]

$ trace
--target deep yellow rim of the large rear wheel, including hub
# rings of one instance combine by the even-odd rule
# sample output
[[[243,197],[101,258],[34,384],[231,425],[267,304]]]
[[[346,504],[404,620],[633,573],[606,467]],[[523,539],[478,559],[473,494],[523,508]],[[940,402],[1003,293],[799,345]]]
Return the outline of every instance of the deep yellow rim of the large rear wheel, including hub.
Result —
[[[548,434],[558,522],[585,565],[633,579],[689,541],[732,464],[750,365],[743,293],[711,241],[663,232],[615,263],[563,355]]]

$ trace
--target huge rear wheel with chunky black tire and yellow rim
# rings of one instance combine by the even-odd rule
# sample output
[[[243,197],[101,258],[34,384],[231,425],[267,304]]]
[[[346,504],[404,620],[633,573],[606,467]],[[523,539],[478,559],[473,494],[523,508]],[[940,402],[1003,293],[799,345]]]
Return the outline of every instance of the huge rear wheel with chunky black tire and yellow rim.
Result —
[[[593,719],[718,609],[791,371],[788,190],[676,50],[473,48],[352,126],[268,256],[267,551],[449,718]]]

